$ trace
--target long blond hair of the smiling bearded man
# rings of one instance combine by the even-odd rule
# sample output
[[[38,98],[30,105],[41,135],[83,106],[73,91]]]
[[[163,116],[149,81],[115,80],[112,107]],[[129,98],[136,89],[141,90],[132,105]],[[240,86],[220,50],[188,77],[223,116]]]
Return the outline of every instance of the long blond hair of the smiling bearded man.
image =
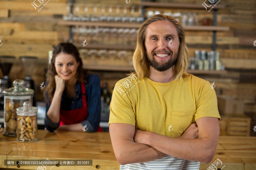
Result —
[[[176,76],[176,81],[181,79],[181,77],[189,76],[186,73],[187,66],[190,62],[189,51],[185,44],[185,31],[184,27],[179,24],[174,18],[162,14],[157,14],[148,18],[140,27],[137,37],[137,46],[133,54],[133,66],[135,72],[132,72],[137,76],[138,79],[145,78],[149,75],[149,65],[146,58],[146,47],[145,47],[145,38],[146,38],[146,29],[149,24],[155,21],[170,21],[176,27],[177,34],[179,37],[179,50],[178,50],[178,61],[174,66],[174,75]],[[131,73],[131,74],[132,74]]]

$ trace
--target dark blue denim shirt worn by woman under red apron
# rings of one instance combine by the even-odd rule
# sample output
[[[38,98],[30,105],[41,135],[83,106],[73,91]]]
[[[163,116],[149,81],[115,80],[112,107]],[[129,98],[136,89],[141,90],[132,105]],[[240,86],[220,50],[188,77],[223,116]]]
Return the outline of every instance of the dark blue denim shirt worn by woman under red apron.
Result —
[[[47,83],[46,83],[47,85]],[[84,87],[82,87],[84,88]],[[82,103],[82,90],[81,84],[77,81],[75,86],[76,96],[70,99],[67,92],[64,90],[61,97],[62,110],[70,111],[75,109],[80,109],[83,107]],[[96,74],[90,74],[87,76],[87,83],[85,84],[85,94],[86,103],[88,107],[88,118],[81,122],[82,126],[87,124],[88,132],[95,132],[98,130],[100,124],[100,113],[101,113],[101,88],[100,88],[100,78]],[[48,95],[46,94],[48,97]],[[51,103],[50,103],[51,104]],[[45,127],[48,131],[53,132],[59,127],[59,123],[52,122],[48,116],[47,112],[49,110],[50,104],[46,102],[46,117],[45,117]]]

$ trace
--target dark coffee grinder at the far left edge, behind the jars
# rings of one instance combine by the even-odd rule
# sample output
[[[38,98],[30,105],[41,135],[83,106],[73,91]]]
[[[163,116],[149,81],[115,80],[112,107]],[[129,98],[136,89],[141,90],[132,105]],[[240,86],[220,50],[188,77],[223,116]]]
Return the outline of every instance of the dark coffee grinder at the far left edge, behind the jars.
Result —
[[[0,56],[0,66],[3,73],[3,78],[0,78],[0,110],[4,109],[3,90],[12,87],[12,81],[9,73],[15,61],[13,56]]]

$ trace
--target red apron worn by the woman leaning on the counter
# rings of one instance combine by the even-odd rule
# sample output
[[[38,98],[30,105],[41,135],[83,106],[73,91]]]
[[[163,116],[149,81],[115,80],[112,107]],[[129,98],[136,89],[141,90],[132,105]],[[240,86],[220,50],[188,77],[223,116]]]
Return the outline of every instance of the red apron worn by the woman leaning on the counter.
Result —
[[[59,126],[81,123],[82,121],[84,121],[88,118],[88,107],[86,104],[85,86],[84,86],[83,82],[81,82],[81,90],[82,90],[83,107],[80,109],[75,109],[75,110],[71,110],[71,111],[64,111],[64,110],[60,109]],[[103,130],[100,126],[99,126],[97,132],[103,132]]]

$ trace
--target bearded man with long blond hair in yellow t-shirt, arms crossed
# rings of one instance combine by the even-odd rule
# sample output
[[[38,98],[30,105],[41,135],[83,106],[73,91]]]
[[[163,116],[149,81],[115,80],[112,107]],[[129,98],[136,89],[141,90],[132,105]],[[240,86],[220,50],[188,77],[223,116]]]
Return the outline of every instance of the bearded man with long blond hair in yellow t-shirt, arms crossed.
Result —
[[[184,28],[154,15],[140,27],[135,72],[119,80],[110,104],[110,137],[120,169],[199,169],[220,134],[210,83],[186,73]]]

